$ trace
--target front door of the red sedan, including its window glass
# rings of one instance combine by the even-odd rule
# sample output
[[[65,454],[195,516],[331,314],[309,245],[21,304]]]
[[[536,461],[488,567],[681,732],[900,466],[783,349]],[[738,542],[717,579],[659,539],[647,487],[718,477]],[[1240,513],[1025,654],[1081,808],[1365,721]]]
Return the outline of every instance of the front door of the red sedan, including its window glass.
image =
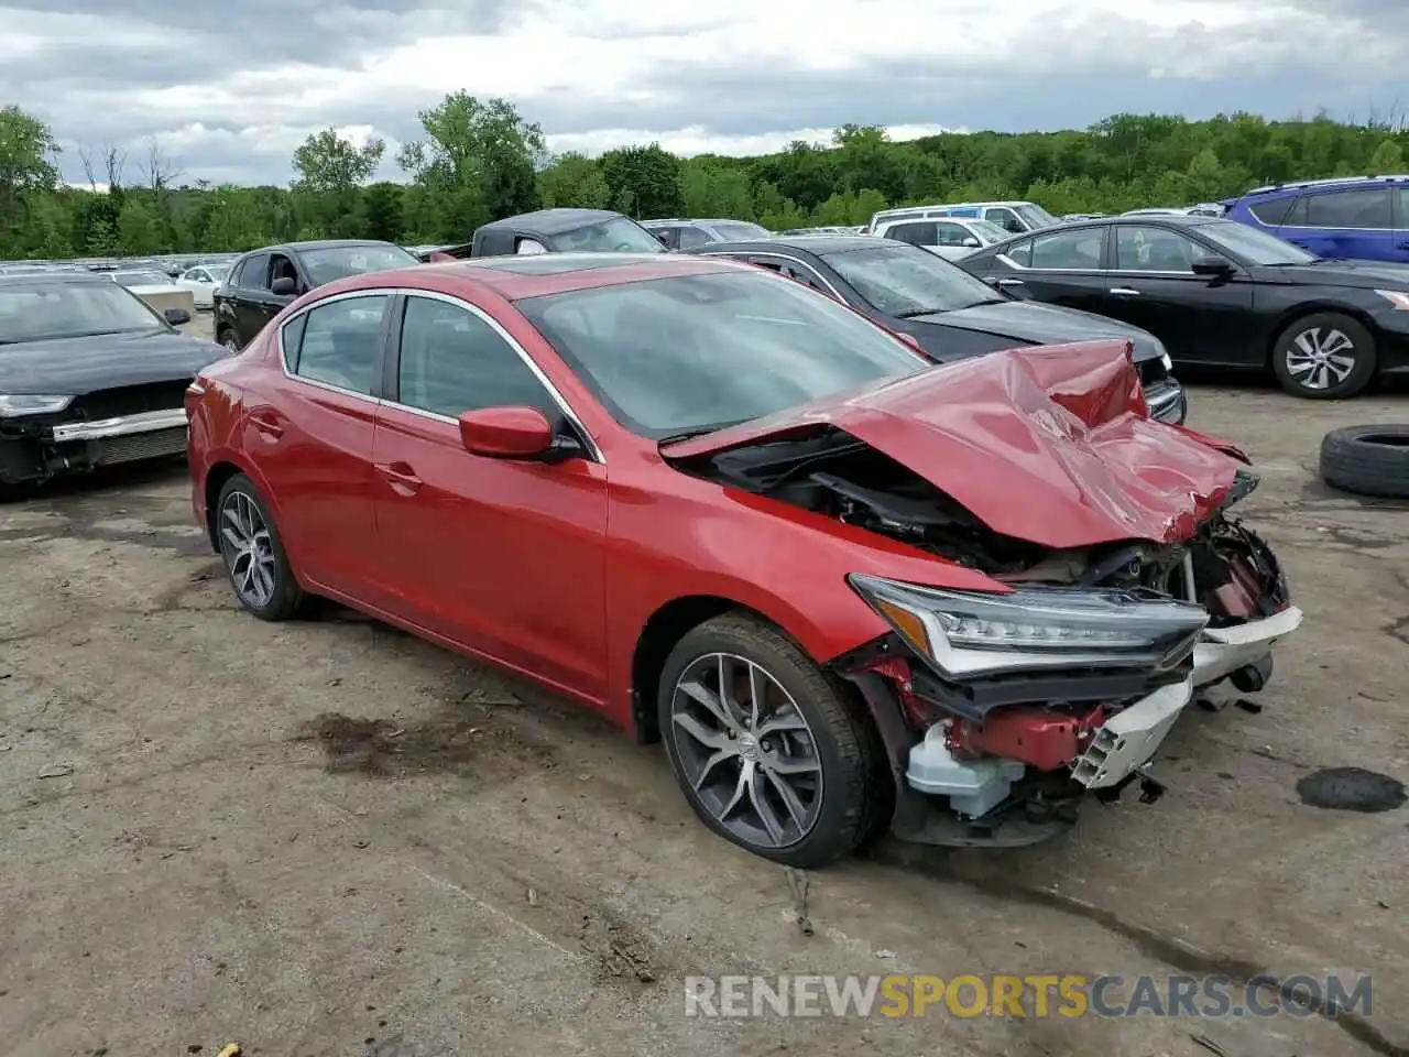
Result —
[[[407,296],[392,357],[372,461],[395,612],[603,700],[606,466],[465,451],[457,419],[468,410],[531,406],[573,428],[526,354],[479,310]]]

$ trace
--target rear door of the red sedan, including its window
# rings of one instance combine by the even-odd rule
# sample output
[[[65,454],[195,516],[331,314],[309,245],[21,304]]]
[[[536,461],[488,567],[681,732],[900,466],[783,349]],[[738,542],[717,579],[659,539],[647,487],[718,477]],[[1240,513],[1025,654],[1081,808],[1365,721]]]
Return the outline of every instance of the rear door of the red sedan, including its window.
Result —
[[[290,376],[245,409],[245,445],[278,497],[299,572],[355,598],[376,557],[372,434],[390,302],[344,295],[283,323]]]

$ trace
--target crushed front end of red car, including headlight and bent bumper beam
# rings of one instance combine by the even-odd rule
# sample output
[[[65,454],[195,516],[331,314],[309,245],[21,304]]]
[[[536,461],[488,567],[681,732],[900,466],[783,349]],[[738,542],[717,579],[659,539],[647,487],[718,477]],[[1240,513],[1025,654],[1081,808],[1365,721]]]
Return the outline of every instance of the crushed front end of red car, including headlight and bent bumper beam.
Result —
[[[1177,544],[968,548],[1006,595],[852,576],[893,634],[837,671],[899,716],[882,723],[898,836],[1019,846],[1069,827],[1089,795],[1157,799],[1151,764],[1189,702],[1223,679],[1261,689],[1302,620],[1272,551],[1226,513],[1255,483],[1240,472]]]

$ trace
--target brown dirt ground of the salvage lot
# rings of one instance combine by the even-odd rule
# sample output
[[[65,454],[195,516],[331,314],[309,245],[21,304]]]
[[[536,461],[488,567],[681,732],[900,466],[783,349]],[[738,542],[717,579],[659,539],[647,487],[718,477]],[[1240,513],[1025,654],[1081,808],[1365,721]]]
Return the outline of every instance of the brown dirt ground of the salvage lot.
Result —
[[[0,1050],[1403,1053],[1409,809],[1295,786],[1409,777],[1409,507],[1313,471],[1327,428],[1409,402],[1192,403],[1255,457],[1246,510],[1308,614],[1265,707],[1191,709],[1164,799],[1091,805],[1055,843],[886,843],[812,874],[812,936],[783,871],[710,836],[659,748],[349,613],[242,614],[183,468],[0,507]],[[702,1020],[682,996],[690,974],[1051,971],[1368,972],[1374,1008]]]

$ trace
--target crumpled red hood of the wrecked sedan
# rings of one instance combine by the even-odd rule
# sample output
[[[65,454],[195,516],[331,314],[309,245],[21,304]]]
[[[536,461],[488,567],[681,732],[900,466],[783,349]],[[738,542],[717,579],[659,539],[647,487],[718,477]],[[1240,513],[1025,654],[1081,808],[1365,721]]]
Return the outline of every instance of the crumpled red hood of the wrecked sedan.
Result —
[[[661,451],[710,455],[828,426],[907,466],[993,531],[1053,548],[1188,538],[1247,462],[1224,441],[1146,417],[1123,341],[934,366]]]

